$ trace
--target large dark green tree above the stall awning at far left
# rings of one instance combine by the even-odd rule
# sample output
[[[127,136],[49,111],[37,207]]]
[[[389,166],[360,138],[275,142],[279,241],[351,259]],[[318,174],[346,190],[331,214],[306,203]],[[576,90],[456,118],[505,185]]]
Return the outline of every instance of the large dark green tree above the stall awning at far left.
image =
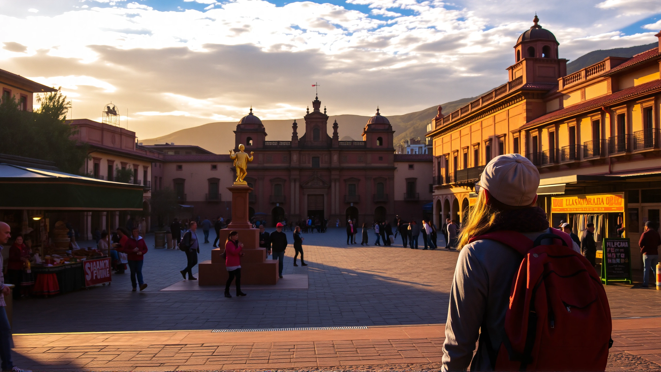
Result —
[[[0,152],[55,162],[64,172],[79,174],[87,160],[87,144],[71,140],[76,129],[66,124],[71,103],[61,91],[38,96],[41,107],[21,111],[15,97],[0,103]]]

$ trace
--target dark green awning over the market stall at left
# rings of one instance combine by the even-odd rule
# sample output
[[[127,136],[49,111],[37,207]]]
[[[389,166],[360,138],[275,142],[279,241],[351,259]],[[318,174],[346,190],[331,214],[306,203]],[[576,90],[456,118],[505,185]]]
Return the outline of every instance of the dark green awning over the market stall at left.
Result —
[[[0,209],[142,210],[143,187],[0,163]]]

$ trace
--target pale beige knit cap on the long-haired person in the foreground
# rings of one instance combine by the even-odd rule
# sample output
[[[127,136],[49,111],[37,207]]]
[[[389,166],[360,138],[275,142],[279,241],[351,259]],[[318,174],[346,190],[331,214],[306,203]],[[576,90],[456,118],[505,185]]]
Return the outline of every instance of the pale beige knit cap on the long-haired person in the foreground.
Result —
[[[539,171],[520,154],[496,156],[486,164],[480,186],[500,203],[512,207],[530,205],[537,195]]]

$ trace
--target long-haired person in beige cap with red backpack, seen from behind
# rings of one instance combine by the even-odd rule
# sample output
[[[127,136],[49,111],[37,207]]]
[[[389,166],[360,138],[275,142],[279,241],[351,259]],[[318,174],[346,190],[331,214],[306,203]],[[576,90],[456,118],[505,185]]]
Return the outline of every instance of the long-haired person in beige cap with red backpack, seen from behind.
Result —
[[[549,228],[538,187],[537,167],[519,154],[491,160],[476,183],[442,371],[604,371],[611,314],[601,279],[567,234]]]

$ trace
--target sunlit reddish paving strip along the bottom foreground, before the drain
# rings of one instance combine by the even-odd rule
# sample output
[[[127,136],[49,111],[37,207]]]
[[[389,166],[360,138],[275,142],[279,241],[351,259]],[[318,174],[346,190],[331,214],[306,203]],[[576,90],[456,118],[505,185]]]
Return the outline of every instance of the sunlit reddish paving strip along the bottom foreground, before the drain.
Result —
[[[607,371],[658,371],[661,318],[613,320]],[[124,332],[15,336],[35,371],[424,371],[440,367],[444,324],[367,330]]]

